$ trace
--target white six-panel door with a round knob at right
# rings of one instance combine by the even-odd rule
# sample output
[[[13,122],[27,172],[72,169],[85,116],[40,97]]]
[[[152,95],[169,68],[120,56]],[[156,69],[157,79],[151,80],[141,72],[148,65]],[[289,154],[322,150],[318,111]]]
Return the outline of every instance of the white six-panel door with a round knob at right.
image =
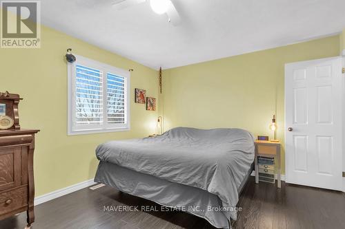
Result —
[[[286,182],[342,190],[342,58],[285,65]]]

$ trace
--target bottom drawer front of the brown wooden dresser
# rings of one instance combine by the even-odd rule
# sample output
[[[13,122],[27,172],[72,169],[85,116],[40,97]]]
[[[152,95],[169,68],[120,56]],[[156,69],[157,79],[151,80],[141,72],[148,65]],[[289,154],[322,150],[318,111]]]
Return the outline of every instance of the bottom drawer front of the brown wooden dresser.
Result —
[[[28,186],[12,188],[0,193],[0,215],[28,205]]]

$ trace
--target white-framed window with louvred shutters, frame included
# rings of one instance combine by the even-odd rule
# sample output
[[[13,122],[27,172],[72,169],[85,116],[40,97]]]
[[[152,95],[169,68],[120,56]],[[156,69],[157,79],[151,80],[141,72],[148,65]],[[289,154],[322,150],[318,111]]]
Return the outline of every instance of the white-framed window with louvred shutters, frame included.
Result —
[[[68,135],[130,129],[130,73],[83,56],[68,63]]]

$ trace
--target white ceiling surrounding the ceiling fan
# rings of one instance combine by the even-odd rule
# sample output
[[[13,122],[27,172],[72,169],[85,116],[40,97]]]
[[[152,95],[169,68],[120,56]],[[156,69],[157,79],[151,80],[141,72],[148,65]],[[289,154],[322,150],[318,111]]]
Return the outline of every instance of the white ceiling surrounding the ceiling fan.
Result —
[[[118,11],[112,0],[43,0],[41,21],[155,69],[297,43],[345,28],[344,0],[172,1],[182,18],[177,27],[165,14],[152,12],[148,2]]]

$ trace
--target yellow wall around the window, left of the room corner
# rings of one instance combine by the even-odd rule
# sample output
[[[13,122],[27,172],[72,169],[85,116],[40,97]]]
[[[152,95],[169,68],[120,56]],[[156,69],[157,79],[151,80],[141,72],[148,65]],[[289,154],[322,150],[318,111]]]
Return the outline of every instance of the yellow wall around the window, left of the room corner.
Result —
[[[68,47],[75,54],[120,67],[131,74],[131,130],[68,136],[67,66]],[[157,98],[157,71],[112,54],[61,32],[42,27],[41,49],[0,49],[0,91],[24,98],[19,103],[23,128],[41,129],[34,152],[36,195],[91,179],[95,175],[95,148],[101,142],[144,137],[156,131],[157,112],[146,111],[134,101],[134,89],[147,90]]]

